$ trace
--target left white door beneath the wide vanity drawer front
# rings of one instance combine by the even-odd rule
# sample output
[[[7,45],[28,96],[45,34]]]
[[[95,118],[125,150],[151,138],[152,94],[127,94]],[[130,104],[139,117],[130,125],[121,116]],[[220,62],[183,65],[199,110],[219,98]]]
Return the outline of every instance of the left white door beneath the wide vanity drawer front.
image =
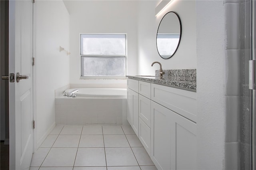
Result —
[[[171,112],[151,101],[151,159],[158,170],[171,169]]]

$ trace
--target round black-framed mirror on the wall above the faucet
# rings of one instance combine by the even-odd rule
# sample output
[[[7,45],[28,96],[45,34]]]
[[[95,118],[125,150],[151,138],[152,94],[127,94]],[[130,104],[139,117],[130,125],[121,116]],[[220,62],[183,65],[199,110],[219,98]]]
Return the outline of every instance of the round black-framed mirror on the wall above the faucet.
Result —
[[[176,12],[168,12],[162,18],[156,35],[157,51],[163,59],[172,57],[180,44],[182,26]]]

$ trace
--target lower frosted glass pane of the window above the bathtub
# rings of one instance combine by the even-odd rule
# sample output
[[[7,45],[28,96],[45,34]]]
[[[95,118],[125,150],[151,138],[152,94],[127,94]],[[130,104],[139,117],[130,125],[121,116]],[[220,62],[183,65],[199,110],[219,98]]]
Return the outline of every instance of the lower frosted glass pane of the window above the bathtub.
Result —
[[[82,76],[125,76],[125,57],[84,57]]]

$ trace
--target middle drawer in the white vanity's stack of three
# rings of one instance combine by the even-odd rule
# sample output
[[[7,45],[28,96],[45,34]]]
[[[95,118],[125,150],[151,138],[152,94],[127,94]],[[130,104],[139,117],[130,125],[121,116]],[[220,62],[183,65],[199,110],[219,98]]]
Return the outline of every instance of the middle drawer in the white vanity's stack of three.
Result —
[[[150,99],[139,95],[139,117],[150,127]]]

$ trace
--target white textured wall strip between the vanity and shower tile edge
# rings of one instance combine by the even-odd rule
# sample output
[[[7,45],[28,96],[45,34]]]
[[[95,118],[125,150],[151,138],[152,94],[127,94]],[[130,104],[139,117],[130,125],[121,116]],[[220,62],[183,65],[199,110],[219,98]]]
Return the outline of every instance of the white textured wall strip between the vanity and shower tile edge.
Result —
[[[225,48],[223,1],[196,1],[198,170],[225,169]]]

